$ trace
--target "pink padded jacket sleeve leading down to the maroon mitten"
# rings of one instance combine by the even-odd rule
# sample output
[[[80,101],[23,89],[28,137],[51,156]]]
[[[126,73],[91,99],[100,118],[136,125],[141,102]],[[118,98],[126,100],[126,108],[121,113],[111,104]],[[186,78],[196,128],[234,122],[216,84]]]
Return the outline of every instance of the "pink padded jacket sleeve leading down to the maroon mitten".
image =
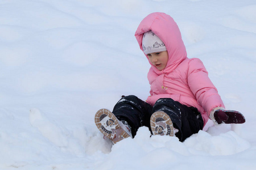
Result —
[[[209,79],[203,62],[198,58],[192,58],[188,63],[188,86],[208,117],[214,108],[225,108],[216,87]]]

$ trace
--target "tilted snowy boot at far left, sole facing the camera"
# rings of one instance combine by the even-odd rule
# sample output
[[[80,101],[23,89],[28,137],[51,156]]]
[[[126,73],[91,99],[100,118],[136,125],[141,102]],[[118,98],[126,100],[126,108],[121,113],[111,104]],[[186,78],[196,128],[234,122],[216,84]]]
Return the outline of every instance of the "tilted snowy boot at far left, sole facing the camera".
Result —
[[[97,128],[113,143],[132,137],[130,126],[126,121],[119,121],[108,109],[100,109],[94,118]]]

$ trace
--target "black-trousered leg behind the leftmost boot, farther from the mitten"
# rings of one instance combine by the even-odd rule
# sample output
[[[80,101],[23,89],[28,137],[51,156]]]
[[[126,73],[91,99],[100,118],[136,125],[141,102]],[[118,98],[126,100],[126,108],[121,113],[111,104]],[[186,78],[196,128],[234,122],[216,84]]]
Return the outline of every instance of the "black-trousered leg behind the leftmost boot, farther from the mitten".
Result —
[[[150,128],[152,106],[138,97],[124,96],[115,104],[113,114],[118,120],[125,120],[131,126],[133,137],[141,126]]]

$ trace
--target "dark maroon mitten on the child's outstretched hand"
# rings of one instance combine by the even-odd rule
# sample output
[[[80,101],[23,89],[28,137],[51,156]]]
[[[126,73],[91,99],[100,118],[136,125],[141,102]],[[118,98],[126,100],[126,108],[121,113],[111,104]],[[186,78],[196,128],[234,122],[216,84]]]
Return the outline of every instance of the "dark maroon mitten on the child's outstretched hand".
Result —
[[[217,110],[214,112],[214,118],[218,124],[243,124],[245,117],[237,111]]]

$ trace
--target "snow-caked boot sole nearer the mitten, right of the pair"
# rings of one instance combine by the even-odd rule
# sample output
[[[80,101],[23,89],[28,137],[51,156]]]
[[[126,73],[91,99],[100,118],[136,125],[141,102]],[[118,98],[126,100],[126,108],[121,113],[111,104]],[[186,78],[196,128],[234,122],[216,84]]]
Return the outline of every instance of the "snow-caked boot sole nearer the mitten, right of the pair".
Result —
[[[174,126],[170,116],[164,112],[155,112],[150,117],[150,127],[153,135],[170,135],[174,136]]]

